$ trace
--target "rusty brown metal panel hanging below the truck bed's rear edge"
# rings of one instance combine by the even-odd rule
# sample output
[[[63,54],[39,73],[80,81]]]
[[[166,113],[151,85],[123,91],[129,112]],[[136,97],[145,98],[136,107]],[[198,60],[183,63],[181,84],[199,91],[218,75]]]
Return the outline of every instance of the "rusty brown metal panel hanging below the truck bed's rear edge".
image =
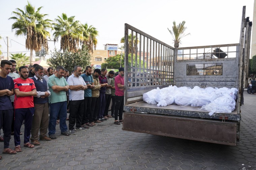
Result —
[[[124,113],[123,130],[236,146],[237,122]]]

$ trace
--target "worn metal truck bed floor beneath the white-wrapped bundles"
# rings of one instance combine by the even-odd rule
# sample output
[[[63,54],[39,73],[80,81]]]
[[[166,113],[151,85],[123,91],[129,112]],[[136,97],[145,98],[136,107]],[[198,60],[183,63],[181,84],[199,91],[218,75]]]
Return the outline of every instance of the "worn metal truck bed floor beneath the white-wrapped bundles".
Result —
[[[237,113],[237,107],[231,113],[214,113],[210,116],[205,110],[199,110],[201,107],[191,107],[191,106],[180,106],[176,104],[167,106],[157,106],[154,104],[148,104],[144,101],[135,102],[124,106],[125,111],[149,113],[149,114],[160,114],[169,116],[185,116],[194,118],[206,118],[206,119],[225,119],[225,120],[235,120],[240,121],[241,115]],[[223,117],[224,116],[224,117]]]

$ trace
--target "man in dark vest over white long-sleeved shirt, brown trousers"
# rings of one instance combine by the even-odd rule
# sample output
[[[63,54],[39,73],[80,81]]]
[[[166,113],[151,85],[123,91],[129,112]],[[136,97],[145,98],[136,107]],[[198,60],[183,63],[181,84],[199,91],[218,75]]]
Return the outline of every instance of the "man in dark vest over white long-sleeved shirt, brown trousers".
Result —
[[[31,128],[31,144],[40,145],[40,140],[51,140],[46,136],[47,128],[49,124],[49,109],[48,109],[48,97],[51,95],[47,88],[47,82],[43,78],[43,67],[38,65],[35,67],[35,76],[31,78],[34,80],[37,90],[37,96],[34,97],[35,113],[32,121]],[[38,137],[38,131],[40,129],[40,136]]]

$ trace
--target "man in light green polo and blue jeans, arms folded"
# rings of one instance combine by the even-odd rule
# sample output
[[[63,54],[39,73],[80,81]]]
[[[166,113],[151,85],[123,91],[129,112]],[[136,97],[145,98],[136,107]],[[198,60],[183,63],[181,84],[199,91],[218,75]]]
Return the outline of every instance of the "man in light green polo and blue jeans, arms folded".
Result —
[[[56,74],[53,74],[48,79],[48,87],[51,92],[49,97],[49,103],[51,107],[50,120],[49,120],[49,137],[56,139],[56,121],[58,115],[60,116],[60,130],[61,134],[69,136],[67,130],[66,118],[67,118],[67,96],[66,92],[69,90],[69,85],[63,77],[65,68],[57,66]]]

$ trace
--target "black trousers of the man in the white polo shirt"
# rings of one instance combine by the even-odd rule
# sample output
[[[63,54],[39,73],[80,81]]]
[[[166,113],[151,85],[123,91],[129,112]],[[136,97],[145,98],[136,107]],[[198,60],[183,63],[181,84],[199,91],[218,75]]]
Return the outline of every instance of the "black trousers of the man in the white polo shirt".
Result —
[[[69,101],[69,130],[75,127],[79,128],[82,126],[82,120],[84,115],[84,100],[70,100]]]

